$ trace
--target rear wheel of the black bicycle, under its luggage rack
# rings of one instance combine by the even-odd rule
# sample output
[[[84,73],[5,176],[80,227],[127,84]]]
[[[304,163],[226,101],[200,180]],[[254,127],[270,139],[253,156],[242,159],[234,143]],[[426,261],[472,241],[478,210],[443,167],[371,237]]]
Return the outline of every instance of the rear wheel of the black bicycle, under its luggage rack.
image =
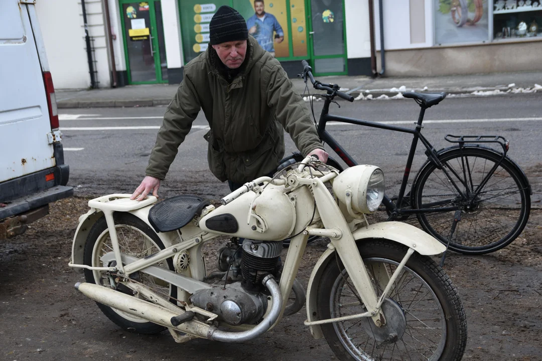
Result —
[[[427,162],[418,173],[413,190],[415,209],[462,210],[450,241],[451,250],[464,254],[500,250],[527,224],[531,211],[528,180],[508,157],[490,173],[501,157],[489,148],[454,147],[438,156],[443,169]],[[450,211],[416,216],[425,232],[447,244],[454,214]]]

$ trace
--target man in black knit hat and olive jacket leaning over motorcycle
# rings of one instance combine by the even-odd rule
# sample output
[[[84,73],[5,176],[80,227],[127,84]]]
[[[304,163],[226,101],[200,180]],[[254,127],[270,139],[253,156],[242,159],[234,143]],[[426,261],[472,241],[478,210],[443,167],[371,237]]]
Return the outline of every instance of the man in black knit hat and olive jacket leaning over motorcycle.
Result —
[[[211,45],[186,64],[184,79],[164,115],[146,176],[131,199],[158,196],[180,143],[203,109],[211,128],[211,172],[232,191],[272,173],[284,155],[284,132],[305,156],[327,161],[305,102],[280,63],[248,35],[243,17],[221,6],[209,24]]]

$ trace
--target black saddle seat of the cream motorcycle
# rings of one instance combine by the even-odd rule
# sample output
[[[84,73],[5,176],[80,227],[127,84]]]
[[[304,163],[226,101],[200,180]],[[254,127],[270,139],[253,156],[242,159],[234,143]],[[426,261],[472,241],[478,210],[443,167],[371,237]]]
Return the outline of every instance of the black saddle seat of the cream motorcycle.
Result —
[[[156,232],[170,232],[190,223],[202,209],[210,205],[207,199],[195,195],[177,195],[154,205],[149,211],[149,223]]]

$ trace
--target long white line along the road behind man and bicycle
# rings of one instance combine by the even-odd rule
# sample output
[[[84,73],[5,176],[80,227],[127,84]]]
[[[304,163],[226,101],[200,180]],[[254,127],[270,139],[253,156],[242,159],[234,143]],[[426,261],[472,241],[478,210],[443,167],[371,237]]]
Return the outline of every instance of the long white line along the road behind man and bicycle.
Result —
[[[96,118],[96,119],[111,119],[111,118]],[[87,120],[87,119],[85,119]],[[438,123],[489,123],[489,122],[529,122],[529,121],[542,121],[542,117],[531,118],[501,118],[501,119],[442,119],[442,120],[424,120],[424,124],[438,124]],[[398,120],[398,121],[383,121],[376,122],[379,124],[413,124],[412,120]],[[357,125],[343,122],[327,122],[327,126],[348,126]],[[126,127],[62,127],[60,130],[154,130],[160,129],[160,126],[126,126]],[[209,129],[209,126],[193,125],[192,129]]]

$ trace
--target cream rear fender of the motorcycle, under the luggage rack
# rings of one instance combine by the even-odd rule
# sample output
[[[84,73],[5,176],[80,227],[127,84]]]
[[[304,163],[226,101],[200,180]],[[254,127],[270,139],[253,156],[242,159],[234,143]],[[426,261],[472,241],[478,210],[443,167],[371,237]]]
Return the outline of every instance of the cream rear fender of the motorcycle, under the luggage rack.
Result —
[[[147,225],[149,225],[149,227],[151,227],[151,229],[153,229],[148,219],[149,209],[151,209],[152,206],[153,205],[149,205],[143,208],[134,209],[133,211],[128,211],[127,213],[131,213],[137,216],[137,218],[144,221]],[[92,226],[94,226],[94,224],[103,215],[104,213],[100,211],[100,209],[91,208],[86,214],[83,214],[79,217],[79,225],[75,231],[73,244],[72,244],[72,263],[73,264],[77,264],[77,265],[83,264],[83,253],[85,252],[85,242],[87,241],[88,234],[91,232]],[[178,237],[177,231],[165,232],[165,233],[156,232],[156,234],[158,235],[160,240],[162,240],[165,247],[169,247],[175,244],[176,239]]]

